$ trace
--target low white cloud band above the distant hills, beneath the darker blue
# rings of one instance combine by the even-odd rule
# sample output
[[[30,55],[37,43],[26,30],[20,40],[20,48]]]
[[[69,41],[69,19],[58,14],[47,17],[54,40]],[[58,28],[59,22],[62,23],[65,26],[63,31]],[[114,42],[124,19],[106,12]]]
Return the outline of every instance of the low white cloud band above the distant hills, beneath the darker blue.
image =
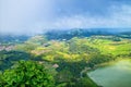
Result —
[[[73,15],[64,16],[59,18],[53,25],[55,27],[67,27],[67,28],[94,28],[94,27],[131,27],[131,7],[122,5],[116,7],[111,5],[107,12],[110,14],[106,16],[93,16],[91,14],[86,15]]]

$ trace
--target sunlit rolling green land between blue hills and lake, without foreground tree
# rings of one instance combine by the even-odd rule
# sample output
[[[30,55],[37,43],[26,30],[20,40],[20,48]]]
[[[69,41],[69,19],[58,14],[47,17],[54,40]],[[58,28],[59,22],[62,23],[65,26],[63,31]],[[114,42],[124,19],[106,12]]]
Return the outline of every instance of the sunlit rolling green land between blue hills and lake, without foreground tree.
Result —
[[[38,35],[23,42],[15,42],[11,50],[1,50],[0,70],[4,74],[17,61],[37,61],[48,71],[55,70],[51,73],[56,87],[98,87],[85,73],[99,64],[121,58],[131,58],[129,38],[95,35],[61,40]]]

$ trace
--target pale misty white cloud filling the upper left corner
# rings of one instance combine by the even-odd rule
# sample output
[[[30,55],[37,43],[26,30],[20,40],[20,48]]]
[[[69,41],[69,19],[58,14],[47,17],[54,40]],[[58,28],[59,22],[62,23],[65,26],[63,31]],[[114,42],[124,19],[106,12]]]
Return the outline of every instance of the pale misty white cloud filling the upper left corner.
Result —
[[[52,3],[51,0],[0,0],[0,33],[37,33],[33,26],[48,22]]]

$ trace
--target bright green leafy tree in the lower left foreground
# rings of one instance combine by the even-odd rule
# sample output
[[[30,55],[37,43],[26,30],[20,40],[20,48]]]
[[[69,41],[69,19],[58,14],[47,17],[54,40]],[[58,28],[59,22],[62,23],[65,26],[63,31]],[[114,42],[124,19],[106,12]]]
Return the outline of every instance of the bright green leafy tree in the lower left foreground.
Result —
[[[0,76],[0,86],[4,87],[53,87],[49,71],[38,62],[20,61]]]

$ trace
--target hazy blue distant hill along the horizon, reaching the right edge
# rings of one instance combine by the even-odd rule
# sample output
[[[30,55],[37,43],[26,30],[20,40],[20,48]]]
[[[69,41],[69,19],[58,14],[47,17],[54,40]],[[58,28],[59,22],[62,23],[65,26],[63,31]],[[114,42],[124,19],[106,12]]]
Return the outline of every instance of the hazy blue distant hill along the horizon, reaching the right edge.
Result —
[[[131,35],[131,30],[120,30],[118,28],[73,28],[52,29],[46,33],[48,39],[71,39],[72,37],[90,37],[93,35]],[[120,36],[121,37],[121,36]]]

